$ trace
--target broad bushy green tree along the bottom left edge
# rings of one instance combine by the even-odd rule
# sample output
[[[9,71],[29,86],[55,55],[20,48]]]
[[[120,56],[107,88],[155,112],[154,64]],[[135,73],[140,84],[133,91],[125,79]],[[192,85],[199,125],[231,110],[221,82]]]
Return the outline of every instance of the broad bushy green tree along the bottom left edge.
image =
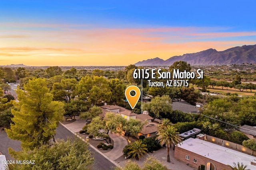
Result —
[[[68,139],[30,152],[9,149],[16,160],[34,160],[34,164],[11,164],[9,170],[90,170],[94,158],[87,147],[88,143],[80,139]]]

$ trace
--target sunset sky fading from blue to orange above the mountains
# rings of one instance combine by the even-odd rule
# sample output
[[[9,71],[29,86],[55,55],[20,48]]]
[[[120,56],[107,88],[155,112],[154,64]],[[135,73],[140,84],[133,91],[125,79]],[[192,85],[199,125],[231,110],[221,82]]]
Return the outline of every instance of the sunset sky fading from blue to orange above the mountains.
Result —
[[[0,0],[0,65],[127,66],[256,44],[255,0]]]

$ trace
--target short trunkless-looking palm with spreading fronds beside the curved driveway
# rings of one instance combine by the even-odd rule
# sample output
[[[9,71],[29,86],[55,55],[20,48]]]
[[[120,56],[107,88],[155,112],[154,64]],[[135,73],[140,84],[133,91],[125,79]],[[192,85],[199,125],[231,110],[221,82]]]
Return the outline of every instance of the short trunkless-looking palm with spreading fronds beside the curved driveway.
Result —
[[[142,143],[142,140],[138,140],[130,145],[128,149],[131,151],[128,152],[128,155],[132,155],[132,158],[136,158],[136,160],[140,160],[140,156],[143,156],[146,152],[148,152],[147,145]]]

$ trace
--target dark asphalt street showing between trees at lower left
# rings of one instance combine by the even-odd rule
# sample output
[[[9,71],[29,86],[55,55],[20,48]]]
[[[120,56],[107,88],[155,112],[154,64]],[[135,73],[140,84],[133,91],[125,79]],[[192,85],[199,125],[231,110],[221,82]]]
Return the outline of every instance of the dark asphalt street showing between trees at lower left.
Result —
[[[74,134],[68,131],[64,126],[59,125],[56,130],[56,139],[64,139],[66,140],[68,137],[74,138]],[[14,141],[12,139],[9,139],[7,137],[6,133],[0,133],[0,152],[6,156],[6,160],[14,160],[8,153],[8,148],[11,147],[14,150],[21,150],[20,147],[20,141]],[[98,152],[96,152],[91,147],[88,147],[88,149],[92,152],[94,155],[94,165],[93,170],[111,170],[115,167],[114,164],[112,164],[110,161],[108,161],[106,158],[104,158],[102,155],[100,155]]]

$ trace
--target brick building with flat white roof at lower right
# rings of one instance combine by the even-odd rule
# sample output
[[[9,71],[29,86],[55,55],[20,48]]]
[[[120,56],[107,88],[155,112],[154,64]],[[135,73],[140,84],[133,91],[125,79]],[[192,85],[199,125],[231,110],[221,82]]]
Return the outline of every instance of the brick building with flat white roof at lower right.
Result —
[[[228,165],[233,166],[233,162],[256,169],[256,157],[201,139],[189,138],[175,146],[174,158],[196,169],[204,165],[206,170],[231,170]]]

